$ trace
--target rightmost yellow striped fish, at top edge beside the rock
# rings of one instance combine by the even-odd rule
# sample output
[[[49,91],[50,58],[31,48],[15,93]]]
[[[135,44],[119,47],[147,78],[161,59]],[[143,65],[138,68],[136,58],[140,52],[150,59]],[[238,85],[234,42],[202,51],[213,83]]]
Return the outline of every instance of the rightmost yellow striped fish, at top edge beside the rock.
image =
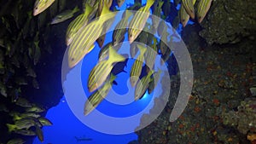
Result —
[[[212,0],[199,0],[199,3],[197,5],[197,20],[199,23],[205,18],[207,15],[208,10],[211,7]]]

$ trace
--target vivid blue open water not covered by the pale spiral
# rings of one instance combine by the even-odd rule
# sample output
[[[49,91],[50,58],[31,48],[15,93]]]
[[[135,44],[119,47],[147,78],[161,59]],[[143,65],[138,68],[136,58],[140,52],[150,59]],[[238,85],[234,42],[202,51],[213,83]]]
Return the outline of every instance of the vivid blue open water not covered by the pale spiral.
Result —
[[[120,9],[125,9],[126,5],[133,3],[133,0],[126,0]],[[146,1],[143,0],[143,4]],[[112,33],[108,33],[105,43],[111,41]],[[127,37],[125,37],[127,41]],[[87,84],[87,78],[90,70],[96,65],[97,54],[99,52],[99,47],[96,44],[96,48],[93,49],[90,54],[84,58],[82,64],[82,84],[85,87]],[[88,62],[90,61],[90,62]],[[113,91],[117,94],[127,94],[130,87],[127,86],[126,82],[129,76],[129,70],[132,66],[132,60],[128,60],[127,66],[125,66],[125,72],[119,73],[118,77],[115,79],[118,85],[113,85]],[[90,63],[90,64],[89,64]],[[61,74],[61,73],[60,73]],[[160,84],[158,85],[160,87]],[[159,89],[159,88],[156,88]],[[158,90],[161,92],[161,90]],[[87,89],[84,89],[86,95],[90,95]],[[132,95],[133,96],[133,95]],[[115,105],[110,101],[103,100],[102,103],[96,107],[96,109],[104,114],[108,114],[112,117],[123,118],[129,117],[141,112],[143,108],[152,105],[152,95],[146,93],[143,98],[139,101],[132,102],[124,105]],[[107,100],[111,100],[111,97]],[[107,108],[108,107],[108,108]],[[151,106],[152,107],[152,106]],[[44,142],[45,144],[73,144],[73,143],[88,143],[88,144],[127,144],[129,141],[137,140],[137,135],[135,133],[126,135],[108,135],[96,130],[91,130],[85,124],[83,124],[79,118],[77,118],[70,107],[67,105],[65,96],[61,99],[58,106],[51,108],[46,115],[50,121],[54,124],[53,126],[44,127]],[[137,122],[137,125],[139,121]],[[84,141],[77,141],[77,138],[84,139]],[[86,139],[86,140],[85,140]],[[42,142],[35,138],[34,144],[41,144]]]

